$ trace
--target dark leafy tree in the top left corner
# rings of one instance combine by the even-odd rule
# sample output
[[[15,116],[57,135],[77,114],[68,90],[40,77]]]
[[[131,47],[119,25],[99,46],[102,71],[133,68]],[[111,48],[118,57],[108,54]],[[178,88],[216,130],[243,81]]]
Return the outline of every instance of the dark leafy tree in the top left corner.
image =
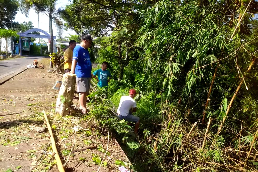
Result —
[[[0,27],[11,27],[11,19],[14,20],[19,9],[19,3],[16,0],[0,1]]]

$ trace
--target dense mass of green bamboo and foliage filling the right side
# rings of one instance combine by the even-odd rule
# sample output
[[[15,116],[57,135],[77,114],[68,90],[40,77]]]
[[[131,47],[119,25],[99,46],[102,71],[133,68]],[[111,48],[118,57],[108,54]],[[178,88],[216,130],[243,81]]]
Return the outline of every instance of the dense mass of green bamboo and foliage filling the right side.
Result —
[[[239,162],[245,162],[243,152],[249,151],[252,141],[252,152],[257,148],[257,62],[245,72],[258,54],[258,22],[253,16],[257,4],[251,3],[231,40],[239,13],[249,1],[240,5],[214,0],[80,3],[85,1],[66,8],[70,16],[79,16],[67,28],[102,36],[108,25],[115,26],[110,36],[96,40],[101,47],[97,62],[109,62],[113,79],[108,96],[113,104],[118,106],[131,88],[141,92],[134,113],[141,119],[139,138],[130,135],[127,122],[110,113],[106,101],[91,101],[94,106],[87,118],[117,134],[138,171],[225,171],[227,165],[256,169],[257,157],[252,161],[249,157],[248,167]],[[244,86],[226,114],[242,78]],[[91,96],[95,95],[103,95],[103,90]],[[207,124],[199,121],[207,99],[205,120],[213,120],[202,149]],[[222,132],[214,135],[223,118]],[[186,139],[194,122],[197,126]],[[208,166],[204,160],[223,166]]]

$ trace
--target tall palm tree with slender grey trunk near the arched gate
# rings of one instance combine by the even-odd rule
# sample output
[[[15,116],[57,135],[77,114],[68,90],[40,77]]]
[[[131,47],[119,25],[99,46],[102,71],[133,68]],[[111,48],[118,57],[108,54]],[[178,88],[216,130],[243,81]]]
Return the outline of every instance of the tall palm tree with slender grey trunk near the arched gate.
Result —
[[[63,22],[60,20],[60,15],[63,14],[64,9],[56,9],[55,4],[57,0],[21,0],[20,1],[20,9],[22,14],[25,14],[26,17],[28,17],[29,11],[31,9],[35,9],[36,13],[43,13],[46,14],[49,17],[50,20],[50,53],[53,53],[53,24],[57,26],[58,28],[58,36],[61,37],[63,33]],[[50,61],[49,67],[53,67],[52,62]]]

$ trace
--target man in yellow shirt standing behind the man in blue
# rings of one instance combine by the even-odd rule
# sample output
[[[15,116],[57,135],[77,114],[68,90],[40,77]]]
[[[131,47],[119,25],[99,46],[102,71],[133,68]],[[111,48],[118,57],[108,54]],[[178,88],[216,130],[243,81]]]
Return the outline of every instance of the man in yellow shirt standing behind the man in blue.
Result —
[[[71,40],[69,42],[69,48],[65,50],[64,53],[64,59],[65,59],[65,65],[64,65],[64,69],[65,69],[65,73],[68,73],[71,71],[71,66],[72,66],[72,54],[73,54],[73,50],[76,46],[76,41],[75,40]]]

